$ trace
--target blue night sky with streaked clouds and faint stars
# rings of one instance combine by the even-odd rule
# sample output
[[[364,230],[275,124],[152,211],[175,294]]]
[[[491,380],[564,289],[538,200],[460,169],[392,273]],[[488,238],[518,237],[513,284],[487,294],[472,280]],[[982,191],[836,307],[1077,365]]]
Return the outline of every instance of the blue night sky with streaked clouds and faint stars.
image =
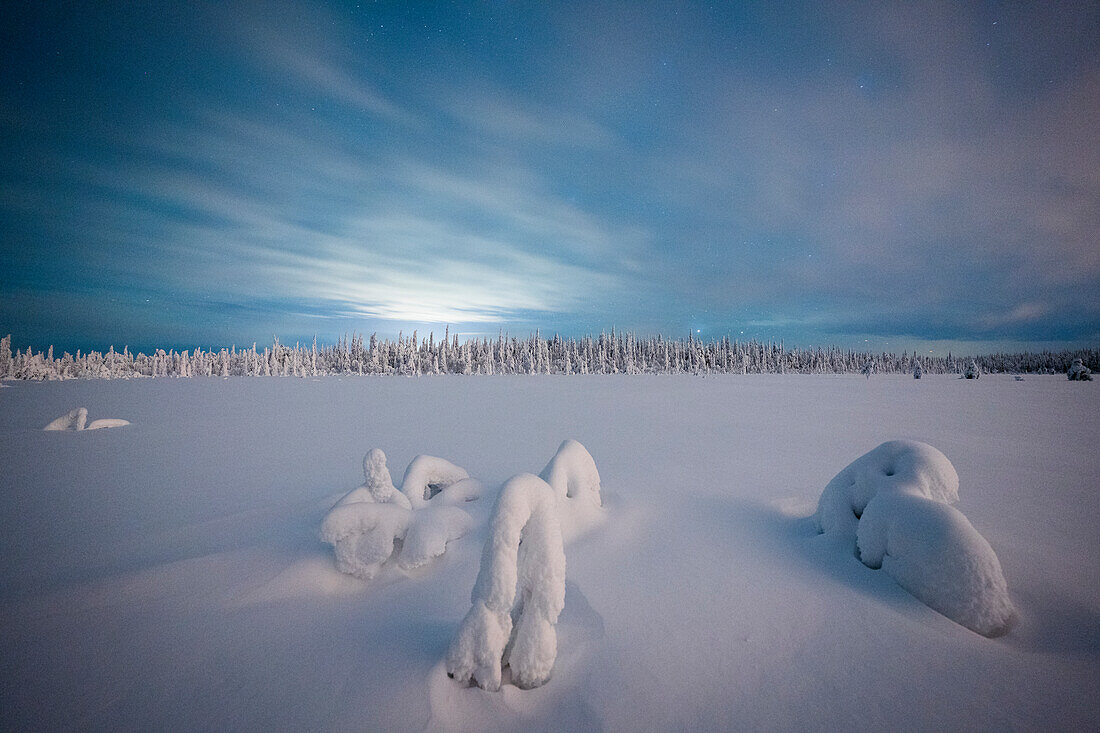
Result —
[[[1100,341],[1097,2],[4,2],[0,59],[16,346]]]

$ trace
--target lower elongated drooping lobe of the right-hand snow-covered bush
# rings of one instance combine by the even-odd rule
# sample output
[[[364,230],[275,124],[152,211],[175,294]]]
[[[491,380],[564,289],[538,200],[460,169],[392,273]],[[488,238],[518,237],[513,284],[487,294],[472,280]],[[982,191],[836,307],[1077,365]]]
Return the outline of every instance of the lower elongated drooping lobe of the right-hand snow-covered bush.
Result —
[[[1001,564],[954,506],[909,493],[880,493],[857,534],[859,559],[881,567],[924,604],[982,636],[1015,619]]]

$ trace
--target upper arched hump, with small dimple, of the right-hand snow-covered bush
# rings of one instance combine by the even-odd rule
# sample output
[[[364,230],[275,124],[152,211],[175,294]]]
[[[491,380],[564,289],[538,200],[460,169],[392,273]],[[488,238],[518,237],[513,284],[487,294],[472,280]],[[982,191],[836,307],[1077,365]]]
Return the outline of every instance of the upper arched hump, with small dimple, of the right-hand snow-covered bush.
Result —
[[[926,442],[883,442],[845,467],[825,486],[814,516],[818,532],[855,539],[868,502],[880,491],[898,490],[954,504],[959,499],[959,477],[947,457]]]

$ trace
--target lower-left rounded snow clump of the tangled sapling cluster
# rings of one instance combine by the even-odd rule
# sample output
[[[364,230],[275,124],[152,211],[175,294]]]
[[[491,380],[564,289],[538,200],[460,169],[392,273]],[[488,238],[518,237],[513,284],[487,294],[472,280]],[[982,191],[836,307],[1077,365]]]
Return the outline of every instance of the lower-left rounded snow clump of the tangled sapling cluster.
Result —
[[[413,512],[396,504],[337,505],[321,523],[321,539],[336,549],[337,569],[370,580],[405,538]]]

